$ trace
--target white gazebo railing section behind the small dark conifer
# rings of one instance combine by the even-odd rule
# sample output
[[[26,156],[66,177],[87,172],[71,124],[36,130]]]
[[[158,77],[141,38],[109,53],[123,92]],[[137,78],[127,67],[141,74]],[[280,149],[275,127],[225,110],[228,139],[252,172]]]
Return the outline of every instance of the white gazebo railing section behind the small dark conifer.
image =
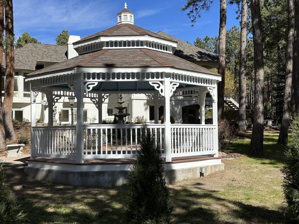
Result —
[[[135,158],[144,125],[82,125],[83,159]],[[164,154],[164,124],[147,124],[145,134],[155,138]]]

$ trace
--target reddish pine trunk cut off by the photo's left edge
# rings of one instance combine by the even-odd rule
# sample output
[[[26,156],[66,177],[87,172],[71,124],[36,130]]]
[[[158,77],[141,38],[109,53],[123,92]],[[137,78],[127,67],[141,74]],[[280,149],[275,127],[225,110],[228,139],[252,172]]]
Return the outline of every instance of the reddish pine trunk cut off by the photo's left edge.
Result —
[[[4,1],[0,0],[0,40],[3,40],[4,31]],[[2,76],[3,47],[0,47],[0,74]],[[0,93],[2,94],[2,77],[0,79]],[[0,149],[6,148],[6,138],[2,114],[2,96],[0,97]]]

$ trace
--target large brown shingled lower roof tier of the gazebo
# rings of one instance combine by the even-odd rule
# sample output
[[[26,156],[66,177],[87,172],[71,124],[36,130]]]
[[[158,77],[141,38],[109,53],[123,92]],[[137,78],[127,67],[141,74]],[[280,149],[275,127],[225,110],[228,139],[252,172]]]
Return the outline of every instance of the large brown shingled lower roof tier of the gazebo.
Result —
[[[74,67],[173,67],[181,70],[218,75],[170,53],[149,49],[103,49],[78,55],[74,58],[28,74],[40,75]]]

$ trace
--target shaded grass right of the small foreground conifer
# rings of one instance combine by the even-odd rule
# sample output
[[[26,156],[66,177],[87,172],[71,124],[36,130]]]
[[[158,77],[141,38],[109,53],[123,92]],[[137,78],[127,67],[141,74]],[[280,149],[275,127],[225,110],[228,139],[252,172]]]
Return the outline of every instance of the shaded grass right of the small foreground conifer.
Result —
[[[217,191],[195,184],[195,190],[187,187],[172,189],[175,198],[174,223],[296,223],[290,214],[217,197]],[[198,191],[196,190],[198,189]]]

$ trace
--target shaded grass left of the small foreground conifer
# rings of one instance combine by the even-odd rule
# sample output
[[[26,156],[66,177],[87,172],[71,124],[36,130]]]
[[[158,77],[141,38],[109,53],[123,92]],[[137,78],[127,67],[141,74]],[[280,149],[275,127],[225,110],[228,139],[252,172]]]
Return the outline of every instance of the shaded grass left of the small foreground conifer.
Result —
[[[23,167],[4,169],[28,223],[126,223],[126,187],[75,187],[28,177]]]

